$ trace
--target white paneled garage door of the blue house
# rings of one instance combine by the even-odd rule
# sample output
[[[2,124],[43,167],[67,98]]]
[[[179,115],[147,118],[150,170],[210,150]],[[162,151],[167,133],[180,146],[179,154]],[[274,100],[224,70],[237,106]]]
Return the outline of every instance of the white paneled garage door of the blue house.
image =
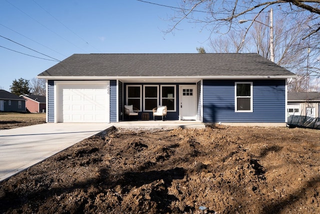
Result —
[[[59,84],[58,122],[109,122],[108,83]]]

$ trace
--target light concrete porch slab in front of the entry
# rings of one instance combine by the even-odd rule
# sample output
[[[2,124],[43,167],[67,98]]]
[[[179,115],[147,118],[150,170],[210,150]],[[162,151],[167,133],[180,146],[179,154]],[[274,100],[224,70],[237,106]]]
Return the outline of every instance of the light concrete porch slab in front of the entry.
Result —
[[[113,123],[116,128],[205,128],[205,124],[195,120],[138,120]]]

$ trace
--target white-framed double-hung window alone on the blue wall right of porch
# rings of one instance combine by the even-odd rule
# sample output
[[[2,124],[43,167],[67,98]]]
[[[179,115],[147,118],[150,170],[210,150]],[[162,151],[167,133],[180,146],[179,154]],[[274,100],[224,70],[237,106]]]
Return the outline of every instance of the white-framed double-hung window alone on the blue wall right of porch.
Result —
[[[235,82],[235,112],[253,112],[252,82]]]

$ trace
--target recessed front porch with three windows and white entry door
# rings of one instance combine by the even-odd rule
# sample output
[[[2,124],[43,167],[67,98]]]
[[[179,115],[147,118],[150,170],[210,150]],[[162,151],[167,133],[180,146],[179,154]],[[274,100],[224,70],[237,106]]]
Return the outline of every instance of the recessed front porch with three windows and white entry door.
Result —
[[[200,80],[137,79],[118,80],[117,118],[110,121],[151,120],[152,110],[166,106],[166,120],[200,120]],[[111,103],[111,102],[110,102]],[[128,115],[124,106],[131,106],[138,115]],[[155,119],[159,119],[156,117]]]

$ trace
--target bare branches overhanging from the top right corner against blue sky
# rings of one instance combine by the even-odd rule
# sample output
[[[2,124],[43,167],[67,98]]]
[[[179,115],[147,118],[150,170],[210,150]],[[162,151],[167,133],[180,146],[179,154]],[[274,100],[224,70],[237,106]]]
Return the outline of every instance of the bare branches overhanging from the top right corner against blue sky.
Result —
[[[236,27],[239,19],[246,16],[251,18],[253,15],[255,20],[271,7],[280,11],[283,19],[293,17],[296,23],[308,24],[309,29],[301,39],[314,35],[318,37],[320,0],[181,0],[180,9],[172,18],[174,24],[169,32],[176,29],[184,19],[201,23],[212,33],[228,32]]]

